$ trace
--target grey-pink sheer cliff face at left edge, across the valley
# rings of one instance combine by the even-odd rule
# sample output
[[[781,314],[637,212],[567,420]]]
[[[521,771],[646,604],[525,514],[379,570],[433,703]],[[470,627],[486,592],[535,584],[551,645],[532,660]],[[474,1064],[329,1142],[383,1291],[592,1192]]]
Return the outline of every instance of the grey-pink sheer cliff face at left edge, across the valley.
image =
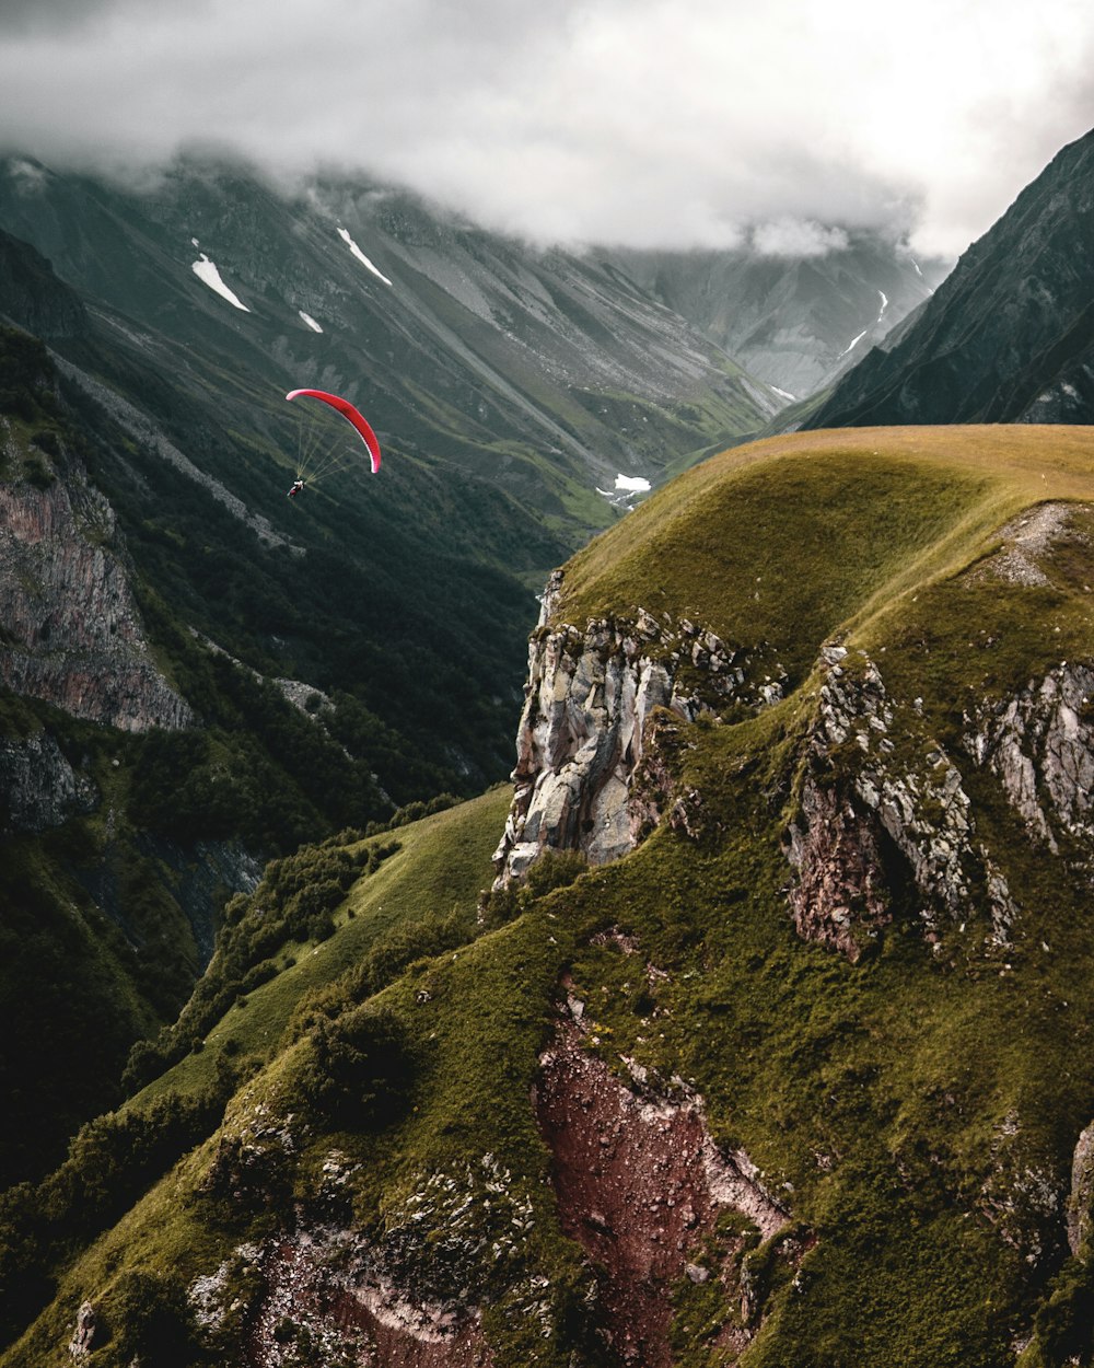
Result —
[[[127,732],[178,728],[189,706],[157,670],[114,512],[75,466],[45,488],[0,484],[0,681]]]

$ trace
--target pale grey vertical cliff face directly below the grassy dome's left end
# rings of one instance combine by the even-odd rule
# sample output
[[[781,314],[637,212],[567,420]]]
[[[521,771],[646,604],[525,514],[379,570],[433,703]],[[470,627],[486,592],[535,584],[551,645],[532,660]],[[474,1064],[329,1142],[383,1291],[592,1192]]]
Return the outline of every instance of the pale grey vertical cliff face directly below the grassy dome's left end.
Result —
[[[555,572],[528,653],[513,806],[494,856],[502,884],[547,848],[593,865],[635,848],[659,815],[648,788],[632,791],[658,709],[693,720],[730,700],[759,709],[782,698],[785,674],[774,665],[762,676],[762,651],[734,650],[686,618],[640,610],[584,631],[551,627],[561,588]]]

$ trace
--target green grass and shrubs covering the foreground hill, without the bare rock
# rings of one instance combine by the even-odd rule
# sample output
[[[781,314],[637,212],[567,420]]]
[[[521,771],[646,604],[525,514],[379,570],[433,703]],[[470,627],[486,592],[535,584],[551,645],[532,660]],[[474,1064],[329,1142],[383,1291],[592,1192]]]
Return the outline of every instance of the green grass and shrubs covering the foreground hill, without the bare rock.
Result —
[[[481,900],[503,789],[272,866],[232,904],[170,1048],[134,1060],[144,1089],[8,1197],[7,1332],[44,1309],[4,1368],[63,1354],[85,1298],[92,1368],[153,1343],[239,1363],[264,1287],[239,1250],[330,1223],[423,1301],[480,1306],[499,1364],[611,1365],[529,1105],[563,977],[585,1048],[625,1082],[624,1056],[666,1097],[700,1093],[718,1144],[790,1212],[767,1242],[726,1213],[691,1252],[751,1291],[667,1289],[674,1363],[736,1361],[733,1324],[743,1368],[1087,1363],[1094,1264],[1089,1244],[1069,1252],[1065,1208],[1094,1119],[1090,856],[1050,854],[963,736],[1061,659],[1094,659],[1091,498],[1087,430],[803,435],[726,453],[574,558],[565,620],[644,606],[766,640],[785,702],[684,728],[691,834],[662,824],[613,866],[561,856]],[[1082,501],[1038,553],[1045,581],[983,579],[1004,524],[1045,499]],[[796,934],[784,837],[834,636],[848,677],[860,650],[881,670],[894,773],[933,747],[961,758],[1008,936],[971,885],[929,940],[894,850],[890,921],[856,963]],[[852,744],[826,763],[838,789],[862,759]],[[212,1302],[187,1300],[212,1275]],[[302,1304],[278,1326],[299,1363],[317,1335]]]

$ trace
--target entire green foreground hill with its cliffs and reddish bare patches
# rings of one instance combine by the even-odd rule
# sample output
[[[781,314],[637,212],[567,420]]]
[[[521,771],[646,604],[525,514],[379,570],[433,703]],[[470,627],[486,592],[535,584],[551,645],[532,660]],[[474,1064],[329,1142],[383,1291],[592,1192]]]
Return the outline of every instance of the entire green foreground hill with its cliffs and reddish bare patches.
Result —
[[[1089,1361],[1091,457],[801,432],[578,551],[513,787],[272,863],[4,1198],[4,1368]]]

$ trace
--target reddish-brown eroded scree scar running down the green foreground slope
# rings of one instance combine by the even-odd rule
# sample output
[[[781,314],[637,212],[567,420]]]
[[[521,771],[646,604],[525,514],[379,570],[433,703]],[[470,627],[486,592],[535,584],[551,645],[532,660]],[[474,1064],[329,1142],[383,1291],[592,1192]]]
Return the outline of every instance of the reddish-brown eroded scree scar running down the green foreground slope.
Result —
[[[751,1308],[730,1248],[722,1267],[707,1268],[700,1250],[719,1212],[747,1216],[767,1239],[788,1222],[744,1153],[723,1155],[706,1126],[702,1099],[635,1089],[581,1047],[570,1014],[543,1055],[535,1089],[540,1131],[554,1156],[563,1228],[599,1270],[599,1301],[618,1360],[669,1368],[671,1286],[721,1278],[729,1304],[718,1343],[740,1353],[755,1334]]]

